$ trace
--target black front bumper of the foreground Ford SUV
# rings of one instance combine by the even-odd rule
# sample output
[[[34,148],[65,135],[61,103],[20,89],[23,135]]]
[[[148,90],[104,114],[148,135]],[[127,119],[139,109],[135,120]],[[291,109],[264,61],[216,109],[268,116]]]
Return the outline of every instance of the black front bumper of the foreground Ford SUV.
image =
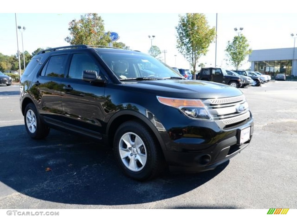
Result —
[[[214,125],[209,124],[208,130],[203,129],[206,133],[202,136],[199,133],[202,129],[199,127],[190,132],[192,136],[184,134],[184,136],[175,139],[171,135],[171,140],[166,142],[168,149],[163,150],[171,171],[202,172],[213,170],[246,148],[254,131],[252,115],[236,127],[219,131],[211,129],[212,127]],[[240,132],[247,127],[250,127],[249,140],[239,144]],[[180,133],[176,133],[181,135],[182,131],[186,132],[187,129],[182,128]],[[197,135],[193,135],[195,131],[198,132]]]

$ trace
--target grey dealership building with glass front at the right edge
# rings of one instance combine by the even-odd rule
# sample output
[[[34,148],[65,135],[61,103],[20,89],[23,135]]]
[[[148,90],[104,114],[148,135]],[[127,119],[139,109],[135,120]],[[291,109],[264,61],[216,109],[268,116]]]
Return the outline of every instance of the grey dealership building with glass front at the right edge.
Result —
[[[278,73],[297,76],[296,58],[296,48],[253,50],[249,54],[251,70],[271,76]]]

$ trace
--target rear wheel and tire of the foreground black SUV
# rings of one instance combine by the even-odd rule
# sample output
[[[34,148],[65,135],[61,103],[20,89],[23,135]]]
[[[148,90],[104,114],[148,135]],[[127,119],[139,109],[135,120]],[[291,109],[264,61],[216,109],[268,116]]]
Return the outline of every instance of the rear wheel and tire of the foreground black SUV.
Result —
[[[39,114],[33,103],[29,103],[24,112],[25,127],[33,139],[43,139],[48,136],[50,128],[40,120]]]

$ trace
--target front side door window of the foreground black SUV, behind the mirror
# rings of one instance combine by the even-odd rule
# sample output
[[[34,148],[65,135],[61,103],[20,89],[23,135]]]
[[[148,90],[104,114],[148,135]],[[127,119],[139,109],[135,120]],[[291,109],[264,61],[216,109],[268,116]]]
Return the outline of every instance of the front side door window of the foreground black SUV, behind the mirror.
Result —
[[[88,54],[73,54],[68,78],[82,79],[84,70],[94,70],[99,75],[99,67]]]

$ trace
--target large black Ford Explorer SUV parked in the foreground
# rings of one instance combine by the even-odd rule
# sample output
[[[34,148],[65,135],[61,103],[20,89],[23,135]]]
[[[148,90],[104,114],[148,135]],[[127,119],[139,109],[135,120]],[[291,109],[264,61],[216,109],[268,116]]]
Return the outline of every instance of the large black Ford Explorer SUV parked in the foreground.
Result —
[[[214,169],[249,144],[254,124],[234,87],[186,80],[147,54],[65,46],[35,55],[20,80],[20,109],[34,139],[50,128],[110,144],[137,180],[166,169]]]

